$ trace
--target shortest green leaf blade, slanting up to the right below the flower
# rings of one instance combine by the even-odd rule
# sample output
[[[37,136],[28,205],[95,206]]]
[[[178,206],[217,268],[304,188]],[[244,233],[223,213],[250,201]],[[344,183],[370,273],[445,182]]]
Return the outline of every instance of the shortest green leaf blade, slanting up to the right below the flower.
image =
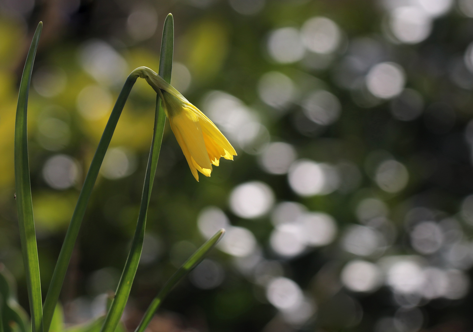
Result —
[[[159,306],[163,302],[164,298],[169,292],[182,280],[187,273],[193,270],[202,259],[209,253],[209,251],[219,242],[220,238],[225,234],[224,229],[220,229],[214,236],[212,236],[206,243],[204,243],[180,268],[173,276],[166,282],[164,287],[159,291],[158,295],[153,299],[148,309],[146,310],[140,325],[136,328],[135,332],[144,332],[148,327],[149,322],[153,318],[153,315],[158,310]]]

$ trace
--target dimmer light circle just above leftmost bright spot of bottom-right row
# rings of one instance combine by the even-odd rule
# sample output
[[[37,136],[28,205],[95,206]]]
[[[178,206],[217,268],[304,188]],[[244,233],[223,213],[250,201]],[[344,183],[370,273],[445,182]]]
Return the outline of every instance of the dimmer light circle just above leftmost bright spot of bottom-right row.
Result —
[[[370,227],[352,225],[347,228],[342,238],[342,248],[358,256],[369,256],[384,247],[383,236]]]

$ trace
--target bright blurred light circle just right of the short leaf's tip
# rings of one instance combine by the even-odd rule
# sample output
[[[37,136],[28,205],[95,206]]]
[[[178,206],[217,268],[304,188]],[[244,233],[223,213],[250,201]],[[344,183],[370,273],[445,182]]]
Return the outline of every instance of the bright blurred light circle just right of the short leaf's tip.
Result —
[[[220,250],[232,256],[245,257],[256,249],[256,238],[245,227],[233,226],[226,230],[218,246]]]

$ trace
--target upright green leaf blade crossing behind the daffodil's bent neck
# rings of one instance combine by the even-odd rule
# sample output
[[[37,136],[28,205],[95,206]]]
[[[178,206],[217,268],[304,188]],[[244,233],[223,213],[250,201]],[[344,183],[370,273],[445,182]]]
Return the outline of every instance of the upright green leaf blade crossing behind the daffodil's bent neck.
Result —
[[[161,41],[161,57],[159,59],[159,73],[163,75],[166,80],[171,80],[172,71],[172,58],[174,49],[174,21],[173,16],[169,14],[166,17],[163,30],[163,38]],[[164,124],[166,115],[160,108],[159,98],[156,100],[157,114],[155,117],[155,127],[153,133],[153,140],[151,143],[151,149],[149,151],[148,166],[146,169],[145,182],[143,185],[143,192],[141,195],[140,213],[138,215],[138,221],[131,242],[130,253],[126,260],[123,268],[122,276],[115,293],[112,306],[108,311],[104,325],[102,326],[101,332],[114,332],[120,318],[123,315],[126,302],[130,295],[131,285],[135,278],[136,270],[140,262],[141,251],[143,248],[143,239],[146,228],[146,215],[149,206],[149,196],[152,189],[152,183],[156,173],[156,166],[158,164],[159,150],[161,148],[161,142],[164,131]]]

